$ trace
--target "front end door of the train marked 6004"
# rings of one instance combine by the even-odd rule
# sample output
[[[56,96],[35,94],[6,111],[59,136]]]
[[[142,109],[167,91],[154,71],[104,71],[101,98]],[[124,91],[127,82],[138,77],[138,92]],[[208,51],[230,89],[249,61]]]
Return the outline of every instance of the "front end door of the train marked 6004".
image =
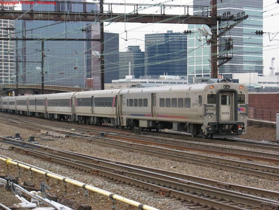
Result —
[[[233,118],[233,92],[220,92],[220,121],[232,121]]]

